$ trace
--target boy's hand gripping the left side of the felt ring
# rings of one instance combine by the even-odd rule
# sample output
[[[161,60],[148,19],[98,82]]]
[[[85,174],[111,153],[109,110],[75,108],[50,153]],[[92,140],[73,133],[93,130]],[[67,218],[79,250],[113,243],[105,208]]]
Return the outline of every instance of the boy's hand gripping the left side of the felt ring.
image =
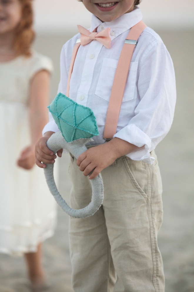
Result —
[[[47,134],[50,133],[50,134]],[[47,145],[47,140],[51,137],[53,132],[47,132],[46,137],[41,137],[35,146],[35,162],[40,168],[46,168],[46,164],[55,163],[56,155],[51,151]],[[57,151],[58,157],[62,156],[63,149]]]

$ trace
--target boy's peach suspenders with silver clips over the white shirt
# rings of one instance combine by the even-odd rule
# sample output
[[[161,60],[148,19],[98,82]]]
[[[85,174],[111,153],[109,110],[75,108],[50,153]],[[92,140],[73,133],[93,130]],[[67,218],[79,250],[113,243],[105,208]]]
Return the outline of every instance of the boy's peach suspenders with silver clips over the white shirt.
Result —
[[[137,40],[140,37],[141,33],[145,29],[146,25],[143,21],[138,22],[134,25],[125,40],[125,44],[123,45],[123,49],[121,51],[120,58],[118,60],[118,65],[115,73],[115,78],[113,81],[113,87],[111,91],[111,96],[108,104],[108,111],[106,115],[106,124],[104,129],[104,139],[112,139],[113,135],[116,134],[118,117],[121,109],[121,103],[123,99],[123,94],[125,91],[127,76],[129,72],[129,66],[131,63],[131,58],[133,55],[133,51],[136,47]],[[76,43],[73,54],[71,58],[71,64],[69,68],[68,75],[68,84],[67,84],[67,93],[69,95],[69,84],[71,79],[71,73],[73,71],[73,65],[76,58],[76,54],[78,48],[80,46],[80,42]]]

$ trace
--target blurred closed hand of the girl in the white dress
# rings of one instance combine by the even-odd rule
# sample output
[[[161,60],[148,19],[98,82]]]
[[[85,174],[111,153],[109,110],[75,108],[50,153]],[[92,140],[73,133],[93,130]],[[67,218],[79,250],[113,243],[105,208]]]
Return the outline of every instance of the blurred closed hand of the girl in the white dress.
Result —
[[[24,169],[31,169],[35,164],[34,146],[26,147],[17,160],[17,165]]]

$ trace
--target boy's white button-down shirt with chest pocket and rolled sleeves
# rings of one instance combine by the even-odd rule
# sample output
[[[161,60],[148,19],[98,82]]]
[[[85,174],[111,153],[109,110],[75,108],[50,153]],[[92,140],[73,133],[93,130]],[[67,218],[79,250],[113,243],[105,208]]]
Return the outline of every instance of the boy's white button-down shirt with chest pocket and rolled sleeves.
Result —
[[[130,28],[142,20],[141,10],[136,8],[112,22],[101,22],[92,15],[92,32],[110,27],[111,48],[93,40],[80,46],[73,67],[69,97],[78,104],[92,109],[98,125],[99,136],[91,144],[102,144],[108,101],[118,59]],[[58,92],[66,94],[68,70],[76,40],[75,35],[61,51],[61,80]],[[150,151],[168,133],[175,108],[175,74],[170,55],[161,38],[146,27],[138,39],[129,69],[126,88],[114,137],[126,140],[143,149],[129,153],[133,160],[153,163]],[[44,127],[57,132],[58,127],[50,115]]]

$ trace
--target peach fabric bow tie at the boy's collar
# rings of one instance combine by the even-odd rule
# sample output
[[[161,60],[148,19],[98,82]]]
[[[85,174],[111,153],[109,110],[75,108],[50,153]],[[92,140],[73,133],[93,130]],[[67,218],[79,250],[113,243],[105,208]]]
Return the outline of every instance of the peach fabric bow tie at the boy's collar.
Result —
[[[78,25],[78,31],[81,34],[81,45],[85,46],[89,44],[92,40],[97,40],[101,42],[107,49],[111,47],[111,37],[110,37],[110,28],[107,27],[101,32],[90,32],[88,29],[85,29],[83,26]]]

